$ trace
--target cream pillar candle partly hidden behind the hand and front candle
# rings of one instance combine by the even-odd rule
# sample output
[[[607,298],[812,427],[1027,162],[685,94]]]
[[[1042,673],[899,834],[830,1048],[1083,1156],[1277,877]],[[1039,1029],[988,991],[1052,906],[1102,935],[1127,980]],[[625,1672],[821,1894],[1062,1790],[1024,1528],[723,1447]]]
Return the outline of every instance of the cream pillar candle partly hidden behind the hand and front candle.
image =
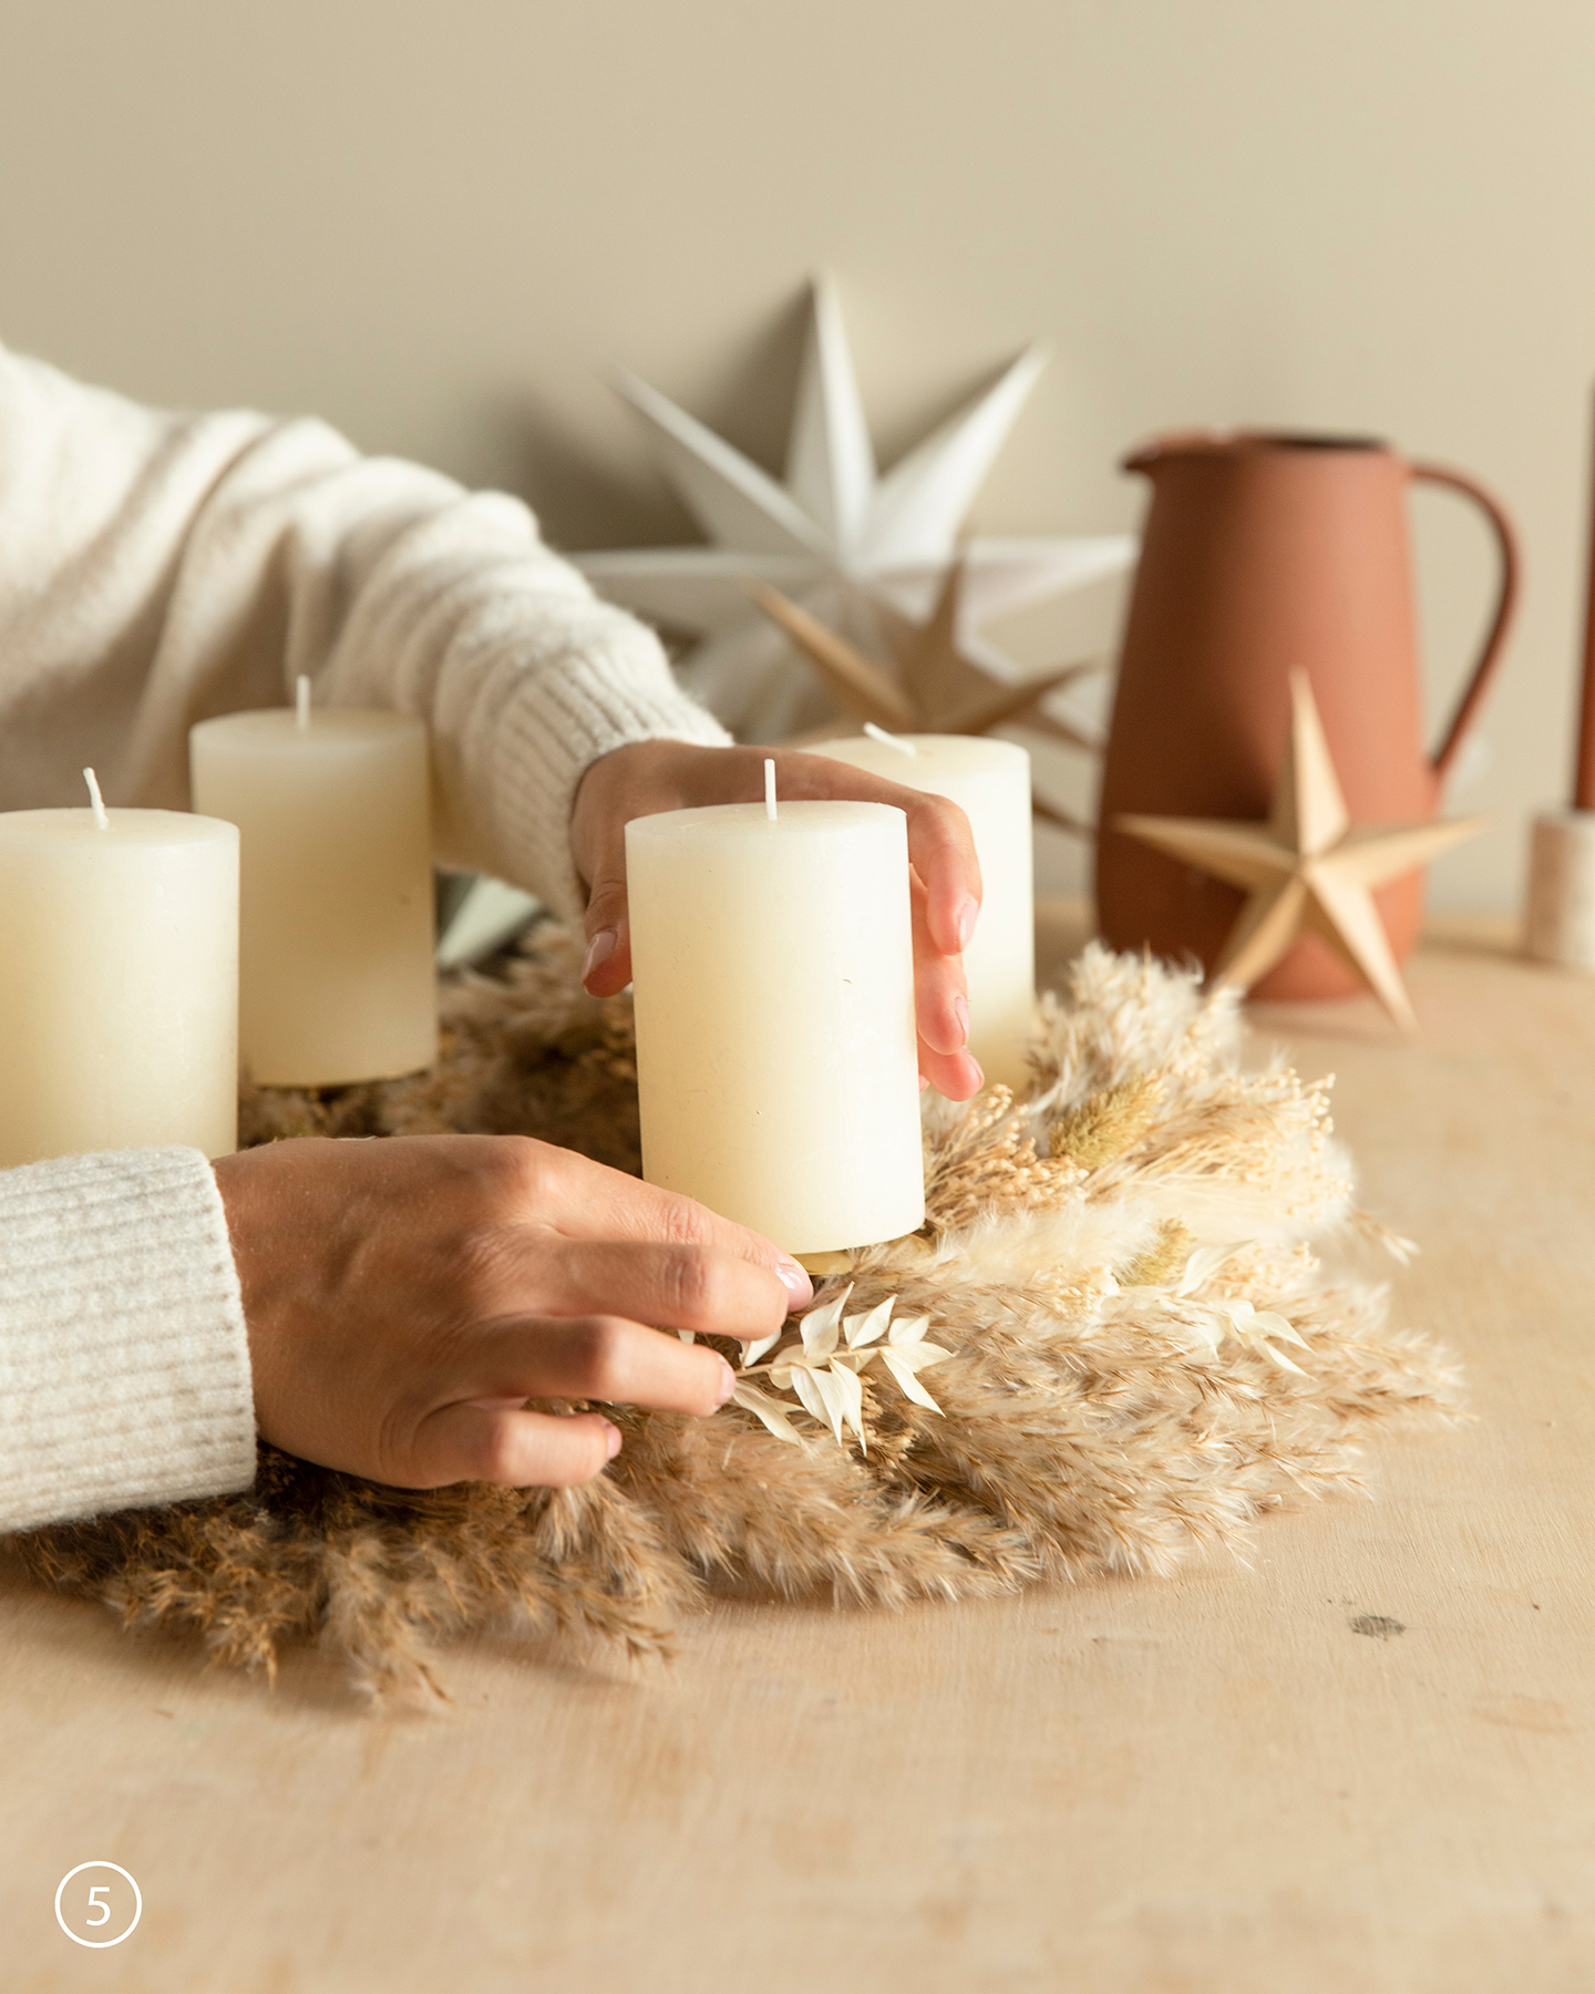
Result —
[[[1023,1087],[1035,1015],[1035,859],[1031,758],[1013,742],[977,734],[905,734],[907,756],[869,736],[815,742],[807,752],[955,802],[975,833],[981,917],[963,957],[969,979],[969,1051],[989,1081]]]

